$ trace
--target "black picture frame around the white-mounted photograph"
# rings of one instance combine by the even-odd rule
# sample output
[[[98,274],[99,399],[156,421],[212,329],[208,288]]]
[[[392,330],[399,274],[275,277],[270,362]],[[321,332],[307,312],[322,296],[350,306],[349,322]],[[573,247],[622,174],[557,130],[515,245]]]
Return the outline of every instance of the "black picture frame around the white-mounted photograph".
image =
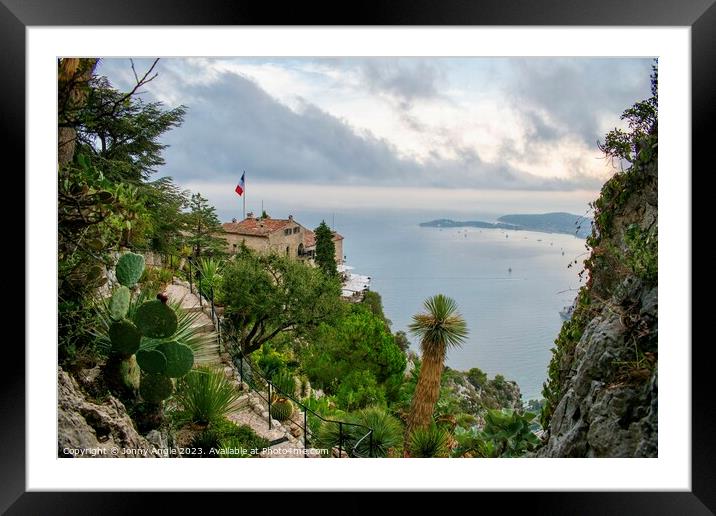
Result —
[[[709,163],[707,160],[713,147],[712,121],[716,106],[715,1],[392,0],[359,2],[350,7],[340,2],[310,2],[276,8],[270,3],[244,0],[0,0],[0,70],[4,75],[4,80],[0,81],[1,141],[6,149],[12,150],[12,154],[19,158],[16,170],[24,170],[24,153],[21,149],[25,148],[25,29],[28,26],[688,26],[691,27],[692,44],[693,163]],[[691,171],[668,172],[687,174],[693,178]],[[17,191],[24,191],[22,183]],[[688,252],[691,256],[690,249]],[[482,510],[487,509],[493,501],[504,502],[493,500],[501,497],[509,498],[510,508],[517,503],[538,514],[712,514],[712,511],[716,511],[716,439],[712,431],[716,410],[708,383],[711,363],[706,353],[709,343],[710,339],[696,341],[696,345],[692,346],[691,492],[510,493],[507,496],[480,493],[476,496]],[[688,349],[691,342],[669,345]],[[25,354],[19,346],[11,345],[5,346],[4,352],[6,360],[13,367],[6,367],[4,374],[0,375],[0,464],[4,470],[4,481],[0,484],[0,510],[7,511],[7,514],[127,514],[147,507],[146,498],[156,495],[25,492]],[[228,501],[229,495],[211,496],[212,506],[218,507]],[[245,497],[246,494],[239,496]],[[163,510],[182,508],[189,497],[195,500],[197,493],[163,496]],[[404,503],[420,504],[423,503],[423,497],[423,494],[413,494]],[[374,502],[370,497],[355,493],[346,493],[340,503],[344,508],[339,511],[342,513],[374,510],[371,508]],[[407,505],[404,507],[408,508]],[[299,509],[297,512],[303,511]]]

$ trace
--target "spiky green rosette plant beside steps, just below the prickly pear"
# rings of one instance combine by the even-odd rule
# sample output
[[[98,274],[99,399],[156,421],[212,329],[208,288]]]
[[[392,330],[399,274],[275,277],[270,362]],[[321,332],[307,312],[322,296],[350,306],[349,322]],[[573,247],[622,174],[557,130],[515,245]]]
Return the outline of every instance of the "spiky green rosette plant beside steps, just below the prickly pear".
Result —
[[[174,397],[180,421],[207,425],[222,420],[239,393],[221,371],[198,367],[177,382]]]

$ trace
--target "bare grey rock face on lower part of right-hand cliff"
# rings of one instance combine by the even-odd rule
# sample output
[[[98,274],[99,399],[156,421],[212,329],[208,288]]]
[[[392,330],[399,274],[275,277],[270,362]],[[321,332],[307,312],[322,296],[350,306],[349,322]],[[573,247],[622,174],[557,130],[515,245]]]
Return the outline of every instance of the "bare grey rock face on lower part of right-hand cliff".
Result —
[[[616,306],[631,306],[654,331],[656,287],[625,280]],[[634,362],[632,328],[622,314],[604,308],[587,326],[574,352],[564,395],[555,408],[540,457],[656,457],[657,369],[619,373]],[[647,361],[648,359],[644,359]]]

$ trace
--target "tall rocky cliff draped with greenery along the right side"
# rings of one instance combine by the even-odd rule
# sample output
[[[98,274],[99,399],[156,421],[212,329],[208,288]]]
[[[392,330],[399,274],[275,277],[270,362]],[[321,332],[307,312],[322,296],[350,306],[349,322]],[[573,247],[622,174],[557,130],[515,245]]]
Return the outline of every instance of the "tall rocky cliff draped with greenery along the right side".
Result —
[[[655,457],[657,440],[656,134],[594,203],[589,280],[553,350],[540,457]]]

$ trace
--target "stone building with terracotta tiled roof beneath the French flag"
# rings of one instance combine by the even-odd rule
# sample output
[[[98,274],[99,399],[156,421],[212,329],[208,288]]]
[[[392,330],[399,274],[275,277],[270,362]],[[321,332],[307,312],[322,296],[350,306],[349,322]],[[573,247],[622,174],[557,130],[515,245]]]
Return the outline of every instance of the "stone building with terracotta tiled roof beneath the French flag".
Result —
[[[244,243],[249,249],[259,253],[277,253],[292,256],[299,260],[312,261],[316,253],[316,235],[302,226],[289,215],[287,219],[271,217],[254,217],[248,213],[240,222],[222,224],[227,241],[228,252],[237,253]],[[336,263],[343,263],[343,237],[333,232],[333,243],[336,246]]]

